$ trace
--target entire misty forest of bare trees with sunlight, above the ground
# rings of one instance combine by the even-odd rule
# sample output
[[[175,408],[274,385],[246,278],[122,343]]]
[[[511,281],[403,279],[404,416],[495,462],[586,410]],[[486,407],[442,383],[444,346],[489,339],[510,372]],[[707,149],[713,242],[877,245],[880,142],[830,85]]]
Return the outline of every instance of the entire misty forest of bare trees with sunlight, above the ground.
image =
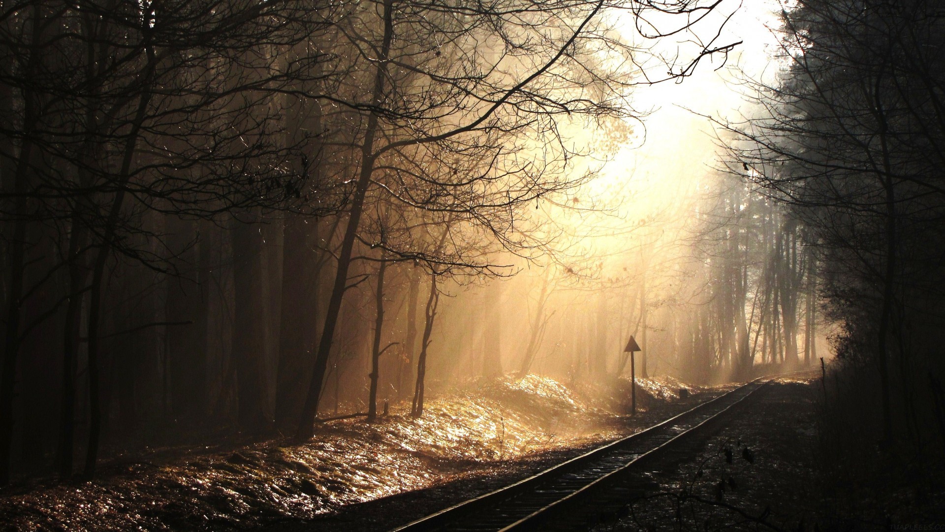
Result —
[[[935,2],[0,12],[0,485],[631,371],[942,463]]]

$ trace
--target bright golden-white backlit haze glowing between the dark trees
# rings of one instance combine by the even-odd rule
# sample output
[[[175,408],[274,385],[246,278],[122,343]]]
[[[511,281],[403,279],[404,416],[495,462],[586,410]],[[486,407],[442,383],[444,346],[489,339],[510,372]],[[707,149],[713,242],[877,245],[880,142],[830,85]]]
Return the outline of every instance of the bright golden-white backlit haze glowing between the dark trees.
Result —
[[[694,270],[694,261],[705,260],[705,250],[698,248],[706,244],[698,236],[705,223],[721,222],[704,218],[700,225],[695,214],[708,210],[720,192],[744,187],[715,169],[720,149],[712,124],[701,115],[750,115],[739,80],[777,75],[771,56],[777,35],[770,28],[777,24],[776,6],[729,4],[695,30],[717,28],[734,11],[715,44],[743,43],[727,57],[703,58],[684,80],[637,86],[630,103],[642,118],[627,120],[627,130],[619,132],[623,142],[613,141],[619,126],[611,125],[610,132],[575,126],[569,138],[575,146],[590,147],[592,155],[578,160],[571,171],[594,168],[599,174],[568,193],[569,208],[540,203],[532,211],[551,222],[553,228],[545,228],[558,235],[554,243],[531,263],[507,257],[504,263],[515,265],[509,271],[517,275],[447,289],[452,297],[441,302],[442,328],[435,331],[431,346],[430,364],[439,379],[462,381],[490,371],[482,367],[480,355],[487,341],[500,346],[504,371],[524,369],[524,352],[537,342],[529,371],[574,381],[586,370],[582,363],[588,354],[603,347],[609,353],[607,371],[614,372],[626,362],[622,350],[629,334],[647,352],[650,373],[686,372],[679,367],[680,350],[685,349],[680,331],[695,310],[711,306],[707,278]],[[632,30],[629,24],[627,31]],[[659,48],[649,41],[642,44],[664,57],[675,49],[671,40],[660,41]],[[679,44],[679,49],[685,47]],[[653,67],[650,75],[665,71]],[[645,326],[641,309],[647,314]],[[500,316],[461,318],[487,311]],[[534,333],[544,321],[546,326]],[[499,338],[487,340],[487,329],[489,335],[497,330]],[[756,331],[750,334],[757,349]],[[433,354],[439,350],[447,353]],[[759,362],[760,357],[756,354]]]

